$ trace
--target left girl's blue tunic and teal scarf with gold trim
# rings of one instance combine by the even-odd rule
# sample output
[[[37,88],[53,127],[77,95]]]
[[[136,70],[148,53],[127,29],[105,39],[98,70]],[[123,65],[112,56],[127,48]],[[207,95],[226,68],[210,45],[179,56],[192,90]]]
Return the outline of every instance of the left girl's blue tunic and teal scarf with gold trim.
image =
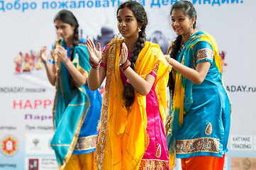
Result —
[[[60,40],[60,43],[65,47],[64,40]],[[56,69],[56,92],[53,105],[55,134],[50,146],[55,151],[60,169],[64,169],[72,154],[87,154],[95,151],[101,95],[99,91],[90,91],[87,85],[75,84],[76,88],[71,89],[67,68],[57,60],[57,57],[54,63]],[[72,63],[79,72],[88,76],[89,54],[85,45],[74,47]]]

